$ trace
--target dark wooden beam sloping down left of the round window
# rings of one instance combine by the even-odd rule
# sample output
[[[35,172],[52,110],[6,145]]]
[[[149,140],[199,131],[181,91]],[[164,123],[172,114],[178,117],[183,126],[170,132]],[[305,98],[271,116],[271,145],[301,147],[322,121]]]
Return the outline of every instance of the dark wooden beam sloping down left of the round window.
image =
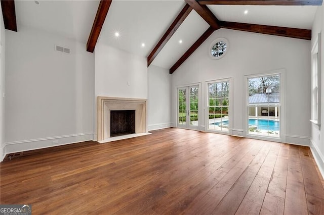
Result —
[[[201,35],[197,41],[191,45],[191,47],[183,54],[183,56],[171,67],[170,74],[174,73],[187,58],[215,31],[213,27],[209,27],[203,35]]]

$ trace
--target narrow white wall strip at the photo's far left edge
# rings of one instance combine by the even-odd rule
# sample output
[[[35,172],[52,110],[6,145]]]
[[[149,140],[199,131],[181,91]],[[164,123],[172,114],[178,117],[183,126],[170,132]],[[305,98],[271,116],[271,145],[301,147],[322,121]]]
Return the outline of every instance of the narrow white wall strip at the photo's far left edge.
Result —
[[[0,10],[0,160],[4,158],[4,147],[5,147],[5,46],[6,46],[6,34],[5,25]]]

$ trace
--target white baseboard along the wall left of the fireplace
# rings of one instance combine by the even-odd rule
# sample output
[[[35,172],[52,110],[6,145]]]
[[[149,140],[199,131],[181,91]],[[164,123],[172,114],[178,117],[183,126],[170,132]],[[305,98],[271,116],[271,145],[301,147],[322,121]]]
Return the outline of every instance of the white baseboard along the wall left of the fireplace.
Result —
[[[72,135],[64,135],[57,137],[48,137],[48,138],[40,138],[40,139],[32,139],[32,140],[24,140],[24,141],[15,141],[5,143],[5,153],[14,153],[20,151],[29,151],[34,149],[48,148],[59,145],[66,145],[70,143],[78,143],[93,140],[93,134],[72,134]]]

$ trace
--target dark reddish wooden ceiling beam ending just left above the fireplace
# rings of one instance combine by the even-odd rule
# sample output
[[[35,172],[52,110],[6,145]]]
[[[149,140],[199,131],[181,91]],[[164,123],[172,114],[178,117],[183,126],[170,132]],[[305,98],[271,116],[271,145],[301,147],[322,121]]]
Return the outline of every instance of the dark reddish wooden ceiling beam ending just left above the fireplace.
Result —
[[[108,14],[111,2],[112,0],[101,0],[99,3],[96,18],[93,22],[92,29],[87,42],[87,51],[89,52],[93,52],[95,50],[96,43],[100,35],[103,23],[105,22],[106,16]]]

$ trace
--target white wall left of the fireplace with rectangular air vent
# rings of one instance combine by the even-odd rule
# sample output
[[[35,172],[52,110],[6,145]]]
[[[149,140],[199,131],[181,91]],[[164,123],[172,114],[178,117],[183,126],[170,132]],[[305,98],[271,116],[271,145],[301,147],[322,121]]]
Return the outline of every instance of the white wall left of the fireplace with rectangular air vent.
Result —
[[[92,140],[95,59],[86,44],[24,26],[6,38],[6,152]]]

